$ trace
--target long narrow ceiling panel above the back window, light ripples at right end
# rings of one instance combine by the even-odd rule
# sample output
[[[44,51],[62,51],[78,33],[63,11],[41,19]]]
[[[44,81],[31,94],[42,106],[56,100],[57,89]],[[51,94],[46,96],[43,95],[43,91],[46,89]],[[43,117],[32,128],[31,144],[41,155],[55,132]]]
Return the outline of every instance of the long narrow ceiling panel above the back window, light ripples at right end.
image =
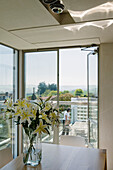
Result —
[[[38,44],[102,37],[104,36],[104,32],[109,27],[110,29],[113,29],[113,20],[54,26],[43,29],[34,28],[28,30],[18,30],[12,31],[12,33],[20,38],[23,38],[27,42]],[[106,31],[106,34],[109,35],[109,32]]]

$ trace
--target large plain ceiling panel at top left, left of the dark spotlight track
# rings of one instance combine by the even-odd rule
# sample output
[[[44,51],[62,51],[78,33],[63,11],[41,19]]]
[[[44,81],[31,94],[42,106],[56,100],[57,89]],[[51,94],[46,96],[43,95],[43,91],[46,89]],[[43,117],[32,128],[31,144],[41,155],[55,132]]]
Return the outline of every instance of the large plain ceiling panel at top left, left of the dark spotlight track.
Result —
[[[6,30],[58,25],[39,0],[0,0],[0,27]]]

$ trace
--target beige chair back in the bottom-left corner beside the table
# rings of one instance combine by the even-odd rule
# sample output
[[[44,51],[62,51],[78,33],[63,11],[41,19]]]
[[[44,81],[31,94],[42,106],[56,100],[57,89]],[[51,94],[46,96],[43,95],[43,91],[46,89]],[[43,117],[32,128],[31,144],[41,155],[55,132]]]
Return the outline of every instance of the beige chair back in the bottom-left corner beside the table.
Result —
[[[5,148],[0,150],[0,168],[5,166],[8,162],[12,161],[12,150],[11,148]]]

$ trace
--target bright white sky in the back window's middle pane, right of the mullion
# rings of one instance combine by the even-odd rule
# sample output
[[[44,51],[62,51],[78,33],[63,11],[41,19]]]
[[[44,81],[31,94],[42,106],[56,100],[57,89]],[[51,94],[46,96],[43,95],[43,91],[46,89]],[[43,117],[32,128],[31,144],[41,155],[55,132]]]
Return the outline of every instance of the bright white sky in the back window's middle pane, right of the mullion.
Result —
[[[87,83],[87,55],[81,49],[60,51],[60,84],[85,86]]]

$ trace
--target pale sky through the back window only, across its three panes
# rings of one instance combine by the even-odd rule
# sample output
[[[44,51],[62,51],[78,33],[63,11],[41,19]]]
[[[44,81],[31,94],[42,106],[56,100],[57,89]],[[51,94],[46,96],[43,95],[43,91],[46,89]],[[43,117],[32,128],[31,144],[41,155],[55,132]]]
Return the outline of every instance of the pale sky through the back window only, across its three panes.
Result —
[[[62,49],[59,55],[60,86],[84,86],[87,84],[87,54],[80,48]],[[90,60],[91,84],[95,84],[96,59]],[[26,54],[26,83],[38,85],[40,82],[57,82],[57,52],[37,52]]]

